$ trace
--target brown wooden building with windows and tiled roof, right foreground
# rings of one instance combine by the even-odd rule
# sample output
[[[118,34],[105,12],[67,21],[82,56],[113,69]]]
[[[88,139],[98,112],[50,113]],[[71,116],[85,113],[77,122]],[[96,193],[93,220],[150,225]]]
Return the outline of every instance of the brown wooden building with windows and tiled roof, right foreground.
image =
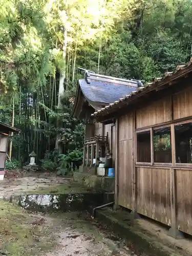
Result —
[[[92,114],[115,119],[115,201],[192,235],[192,59]]]

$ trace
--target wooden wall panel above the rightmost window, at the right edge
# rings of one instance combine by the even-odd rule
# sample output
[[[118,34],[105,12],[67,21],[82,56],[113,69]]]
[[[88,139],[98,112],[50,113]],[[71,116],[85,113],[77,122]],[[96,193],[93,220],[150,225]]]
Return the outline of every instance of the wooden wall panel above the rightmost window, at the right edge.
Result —
[[[192,116],[192,89],[187,88],[173,96],[174,119]]]

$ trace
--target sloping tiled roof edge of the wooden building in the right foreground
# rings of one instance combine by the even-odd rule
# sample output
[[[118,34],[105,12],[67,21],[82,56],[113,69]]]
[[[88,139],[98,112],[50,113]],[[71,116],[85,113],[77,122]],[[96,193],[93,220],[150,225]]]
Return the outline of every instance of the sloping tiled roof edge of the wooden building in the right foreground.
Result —
[[[143,93],[147,93],[148,91],[151,91],[150,89],[155,89],[156,87],[158,87],[160,84],[164,84],[164,83],[168,83],[172,80],[177,79],[178,77],[180,77],[180,75],[183,75],[189,72],[189,70],[192,70],[192,58],[190,59],[190,61],[187,63],[187,65],[179,65],[176,67],[176,71],[175,72],[166,72],[164,74],[163,77],[157,77],[154,79],[153,82],[148,82],[145,84],[145,86],[143,87],[139,87],[136,88],[136,90],[133,90],[130,94],[125,95],[122,98],[119,98],[118,100],[115,100],[113,103],[110,103],[109,105],[105,106],[105,108],[102,108],[101,110],[98,110],[96,112],[94,112],[91,116],[92,117],[96,117],[97,115],[99,115],[100,113],[105,111],[108,111],[109,109],[112,111],[112,108],[115,108],[116,105],[120,106],[120,103],[125,101],[129,102],[130,100],[133,100],[135,97],[139,96],[139,94]],[[189,67],[190,66],[190,67]]]

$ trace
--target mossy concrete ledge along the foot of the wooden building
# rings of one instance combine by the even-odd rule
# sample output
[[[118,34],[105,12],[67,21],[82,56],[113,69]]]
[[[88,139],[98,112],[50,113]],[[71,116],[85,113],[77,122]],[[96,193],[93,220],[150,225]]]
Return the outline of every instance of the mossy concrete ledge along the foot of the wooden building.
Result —
[[[96,211],[96,218],[106,224],[110,230],[119,237],[128,241],[127,246],[132,245],[136,253],[146,253],[148,256],[177,256],[179,251],[169,248],[150,233],[143,230],[135,220],[129,218],[129,212],[102,209]]]

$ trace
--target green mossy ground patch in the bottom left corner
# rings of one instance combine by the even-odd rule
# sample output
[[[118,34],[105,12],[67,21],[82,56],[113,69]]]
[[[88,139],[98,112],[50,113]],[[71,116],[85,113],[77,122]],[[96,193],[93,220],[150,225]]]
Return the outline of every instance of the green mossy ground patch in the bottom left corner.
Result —
[[[38,255],[49,251],[55,239],[52,231],[35,223],[25,210],[0,201],[0,254],[14,256]]]

